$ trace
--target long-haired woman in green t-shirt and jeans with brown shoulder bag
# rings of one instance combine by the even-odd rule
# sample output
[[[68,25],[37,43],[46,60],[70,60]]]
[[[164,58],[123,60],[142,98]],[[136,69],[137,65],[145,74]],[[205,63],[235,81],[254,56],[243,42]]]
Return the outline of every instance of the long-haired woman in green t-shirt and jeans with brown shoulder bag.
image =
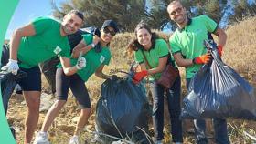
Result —
[[[169,49],[164,39],[151,32],[145,23],[139,23],[135,28],[136,39],[129,44],[130,51],[135,52],[135,61],[139,63],[141,72],[137,72],[133,77],[133,83],[149,76],[150,91],[153,97],[153,124],[155,131],[155,143],[161,144],[164,139],[164,93],[166,93],[169,114],[171,118],[172,138],[175,143],[182,143],[182,123],[180,115],[180,77],[176,78],[174,85],[170,89],[156,83],[165,69],[167,61],[174,62],[168,57]],[[169,59],[168,59],[169,58]]]

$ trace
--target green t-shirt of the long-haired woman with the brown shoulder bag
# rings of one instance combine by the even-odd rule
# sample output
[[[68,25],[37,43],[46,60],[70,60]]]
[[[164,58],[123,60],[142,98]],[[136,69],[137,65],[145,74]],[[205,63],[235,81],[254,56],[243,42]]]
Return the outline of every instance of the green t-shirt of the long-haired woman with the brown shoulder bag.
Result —
[[[143,51],[144,51],[144,56],[146,57],[149,65],[152,68],[158,67],[159,65],[159,58],[161,57],[167,57],[169,54],[169,48],[167,43],[165,42],[164,39],[156,39],[155,40],[155,47],[151,47],[150,50],[146,51],[146,50],[142,50],[139,49],[138,51],[135,52],[135,61],[139,64],[144,63],[147,69],[150,69],[144,60],[144,56],[143,56]],[[170,59],[171,60],[171,59]],[[162,73],[157,73],[154,74],[154,76],[150,76],[149,80],[153,81],[156,79],[159,79],[161,77]]]

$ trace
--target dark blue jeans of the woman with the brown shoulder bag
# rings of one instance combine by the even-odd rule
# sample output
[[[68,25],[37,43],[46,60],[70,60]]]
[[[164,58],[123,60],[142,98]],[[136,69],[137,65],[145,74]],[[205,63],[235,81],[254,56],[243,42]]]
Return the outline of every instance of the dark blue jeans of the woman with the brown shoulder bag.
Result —
[[[168,109],[171,119],[171,133],[174,142],[183,142],[182,138],[182,122],[179,118],[180,108],[180,95],[181,95],[181,82],[180,77],[176,78],[174,85],[165,90],[164,87],[156,84],[156,82],[150,83],[150,91],[153,98],[153,124],[155,131],[155,139],[164,139],[164,93],[168,101]]]

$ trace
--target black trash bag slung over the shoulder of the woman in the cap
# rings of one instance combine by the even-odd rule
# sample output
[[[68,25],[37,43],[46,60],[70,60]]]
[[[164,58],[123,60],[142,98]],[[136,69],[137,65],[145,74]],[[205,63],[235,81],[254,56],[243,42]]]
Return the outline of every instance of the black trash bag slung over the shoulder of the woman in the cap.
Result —
[[[69,35],[68,39],[69,39],[69,45],[71,48],[70,54],[72,53],[73,48],[80,43],[83,34],[92,34],[92,35],[101,36],[101,31],[97,27],[91,26],[91,27],[79,29],[75,34]],[[100,52],[101,45],[96,45],[95,51]],[[44,74],[44,76],[48,81],[52,94],[56,92],[55,76],[56,76],[57,65],[59,64],[59,62],[60,62],[59,57],[52,57],[51,59],[48,59],[39,64],[41,72]]]

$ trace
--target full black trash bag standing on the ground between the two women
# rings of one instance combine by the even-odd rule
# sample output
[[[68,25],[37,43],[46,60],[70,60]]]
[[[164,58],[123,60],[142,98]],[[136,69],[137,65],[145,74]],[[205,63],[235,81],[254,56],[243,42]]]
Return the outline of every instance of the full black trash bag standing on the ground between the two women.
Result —
[[[118,138],[129,135],[134,142],[150,143],[144,132],[137,128],[148,132],[149,115],[143,85],[134,85],[131,79],[120,77],[107,79],[101,85],[95,118],[98,132]]]

